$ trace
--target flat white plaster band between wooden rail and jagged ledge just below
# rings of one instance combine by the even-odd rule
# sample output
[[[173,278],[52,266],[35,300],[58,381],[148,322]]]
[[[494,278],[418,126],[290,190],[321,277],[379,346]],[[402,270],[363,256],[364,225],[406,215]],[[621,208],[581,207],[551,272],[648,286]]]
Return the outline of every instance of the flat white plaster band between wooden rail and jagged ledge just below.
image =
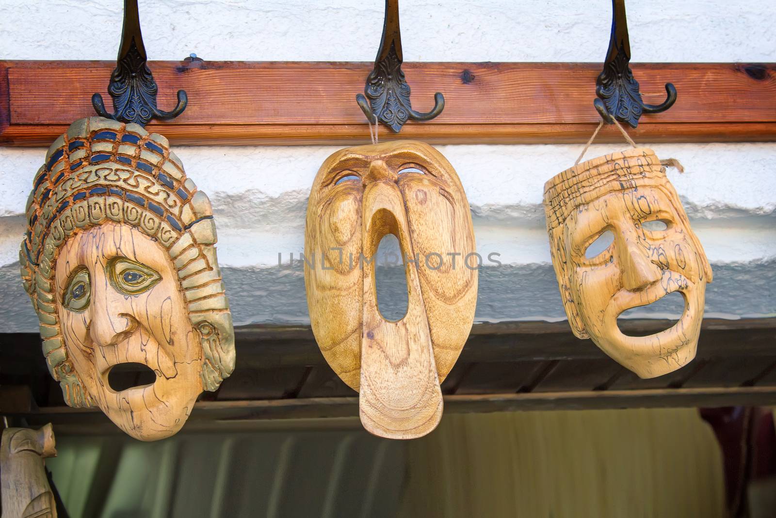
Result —
[[[670,180],[693,218],[771,214],[776,210],[776,143],[644,144],[660,158],[677,158]],[[458,171],[473,214],[485,219],[543,219],[544,182],[573,165],[581,146],[438,146]],[[585,158],[625,146],[593,145]],[[305,209],[320,164],[338,147],[176,147],[186,172],[225,226],[286,222]],[[22,214],[33,175],[46,150],[0,147],[0,216]],[[218,199],[222,201],[217,202]],[[218,209],[218,207],[217,207]],[[234,219],[232,219],[234,218]],[[303,223],[302,223],[303,225]]]

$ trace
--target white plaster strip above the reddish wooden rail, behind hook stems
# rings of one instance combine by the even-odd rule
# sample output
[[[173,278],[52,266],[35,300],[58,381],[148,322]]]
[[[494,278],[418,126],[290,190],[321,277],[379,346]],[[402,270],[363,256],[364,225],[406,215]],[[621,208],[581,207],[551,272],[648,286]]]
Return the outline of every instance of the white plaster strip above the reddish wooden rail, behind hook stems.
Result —
[[[120,0],[2,0],[0,59],[115,59]],[[140,0],[151,59],[373,60],[383,0]],[[609,0],[402,0],[407,61],[601,61]],[[628,3],[634,61],[776,60],[772,0]]]

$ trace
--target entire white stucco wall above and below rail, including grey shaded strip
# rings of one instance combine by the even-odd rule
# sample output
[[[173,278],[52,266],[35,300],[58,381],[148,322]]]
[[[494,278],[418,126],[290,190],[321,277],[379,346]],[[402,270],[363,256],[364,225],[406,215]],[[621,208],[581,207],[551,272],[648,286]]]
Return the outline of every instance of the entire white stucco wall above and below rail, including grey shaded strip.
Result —
[[[0,0],[0,59],[115,59],[122,2],[105,3]],[[776,61],[770,1],[660,0],[629,2],[628,9],[634,61]],[[402,0],[401,16],[408,61],[600,61],[611,4]],[[206,60],[372,60],[383,0],[140,0],[140,17],[151,59],[196,52]],[[480,253],[497,252],[504,263],[480,273],[477,319],[564,317],[549,264],[542,185],[570,167],[580,147],[439,147],[466,188]],[[776,143],[652,147],[686,167],[669,175],[715,270],[707,315],[776,315]],[[593,146],[587,156],[617,148]],[[289,253],[303,250],[307,193],[336,149],[176,148],[213,202],[235,323],[307,321],[303,271],[288,268]],[[24,203],[44,155],[0,147],[0,332],[36,330],[17,250]],[[279,252],[285,268],[277,265]],[[390,281],[389,292],[399,288]],[[650,306],[630,316],[665,311]]]

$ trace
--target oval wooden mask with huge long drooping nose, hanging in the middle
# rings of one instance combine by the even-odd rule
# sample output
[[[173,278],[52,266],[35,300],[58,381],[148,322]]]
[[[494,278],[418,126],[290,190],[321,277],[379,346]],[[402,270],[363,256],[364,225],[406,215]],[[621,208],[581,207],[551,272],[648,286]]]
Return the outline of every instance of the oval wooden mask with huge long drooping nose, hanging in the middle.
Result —
[[[375,264],[386,234],[399,240],[407,314],[377,309]],[[339,150],[307,205],[307,305],[320,351],[360,392],[361,421],[380,437],[410,439],[442,416],[445,379],[474,319],[476,268],[469,202],[456,171],[428,144],[397,141]],[[452,263],[449,254],[459,254]],[[468,257],[469,265],[476,261]]]

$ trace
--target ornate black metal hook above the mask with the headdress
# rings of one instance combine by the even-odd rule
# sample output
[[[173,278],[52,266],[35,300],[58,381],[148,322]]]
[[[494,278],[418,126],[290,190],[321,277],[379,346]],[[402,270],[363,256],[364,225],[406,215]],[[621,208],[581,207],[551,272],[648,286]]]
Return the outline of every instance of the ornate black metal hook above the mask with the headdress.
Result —
[[[157,108],[158,86],[146,64],[147,56],[140,33],[140,16],[137,0],[124,0],[124,24],[121,31],[121,47],[116,59],[116,68],[110,74],[108,93],[113,98],[113,109],[109,114],[102,102],[102,95],[92,95],[92,106],[99,116],[122,123],[137,123],[145,126],[151,119],[170,120],[179,116],[189,102],[184,90],[178,90],[178,105],[171,112]]]

